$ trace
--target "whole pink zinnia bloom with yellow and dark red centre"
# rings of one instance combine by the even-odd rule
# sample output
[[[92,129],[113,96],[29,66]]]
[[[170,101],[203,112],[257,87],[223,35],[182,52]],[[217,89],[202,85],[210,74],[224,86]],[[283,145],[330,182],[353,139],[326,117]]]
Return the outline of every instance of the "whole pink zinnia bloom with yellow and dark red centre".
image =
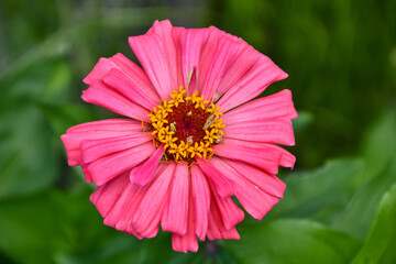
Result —
[[[244,212],[262,219],[285,184],[278,166],[295,156],[297,117],[289,90],[252,100],[287,77],[243,40],[156,21],[129,43],[143,68],[122,54],[100,58],[82,99],[119,114],[62,135],[68,164],[98,186],[90,200],[105,224],[153,238],[161,224],[175,251],[240,239]]]

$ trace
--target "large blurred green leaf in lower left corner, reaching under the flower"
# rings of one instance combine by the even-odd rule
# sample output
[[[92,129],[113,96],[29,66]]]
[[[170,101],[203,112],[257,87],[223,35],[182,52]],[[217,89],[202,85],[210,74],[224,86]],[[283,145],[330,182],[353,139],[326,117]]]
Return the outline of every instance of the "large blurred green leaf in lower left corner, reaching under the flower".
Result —
[[[138,239],[103,224],[90,193],[52,190],[0,201],[0,251],[18,263],[98,263],[139,249]]]

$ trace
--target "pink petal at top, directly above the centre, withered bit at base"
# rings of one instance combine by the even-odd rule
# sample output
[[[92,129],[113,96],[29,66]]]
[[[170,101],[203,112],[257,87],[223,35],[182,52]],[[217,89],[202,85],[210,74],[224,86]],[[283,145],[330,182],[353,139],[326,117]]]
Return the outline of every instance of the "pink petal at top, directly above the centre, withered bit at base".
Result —
[[[190,72],[195,69],[193,78],[199,76],[197,72],[199,61],[201,58],[201,52],[207,41],[209,31],[207,29],[188,29],[182,31],[180,34],[180,48],[182,48],[182,70],[185,87],[188,87],[189,95],[193,95],[196,90],[195,86],[188,85],[188,77]]]

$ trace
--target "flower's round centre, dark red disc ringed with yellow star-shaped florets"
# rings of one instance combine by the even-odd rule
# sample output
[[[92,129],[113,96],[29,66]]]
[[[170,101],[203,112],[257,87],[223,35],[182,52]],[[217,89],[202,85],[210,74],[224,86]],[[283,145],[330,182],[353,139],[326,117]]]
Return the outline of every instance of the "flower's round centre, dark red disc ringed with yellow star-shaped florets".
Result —
[[[220,107],[204,100],[198,91],[188,96],[183,86],[173,90],[170,98],[148,114],[153,142],[157,147],[164,145],[163,161],[191,164],[195,157],[210,160],[212,145],[224,134]]]

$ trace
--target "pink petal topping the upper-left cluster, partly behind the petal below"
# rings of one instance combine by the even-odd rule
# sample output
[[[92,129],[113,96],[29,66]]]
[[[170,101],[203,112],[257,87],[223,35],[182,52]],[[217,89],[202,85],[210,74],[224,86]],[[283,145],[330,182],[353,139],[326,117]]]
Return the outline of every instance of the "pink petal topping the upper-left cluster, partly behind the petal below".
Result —
[[[84,79],[84,82],[91,85],[95,80],[101,80],[102,77],[111,69],[122,72],[125,76],[132,79],[138,87],[144,90],[148,97],[160,99],[158,94],[144,70],[121,53],[118,53],[110,58],[100,58],[94,69]]]

